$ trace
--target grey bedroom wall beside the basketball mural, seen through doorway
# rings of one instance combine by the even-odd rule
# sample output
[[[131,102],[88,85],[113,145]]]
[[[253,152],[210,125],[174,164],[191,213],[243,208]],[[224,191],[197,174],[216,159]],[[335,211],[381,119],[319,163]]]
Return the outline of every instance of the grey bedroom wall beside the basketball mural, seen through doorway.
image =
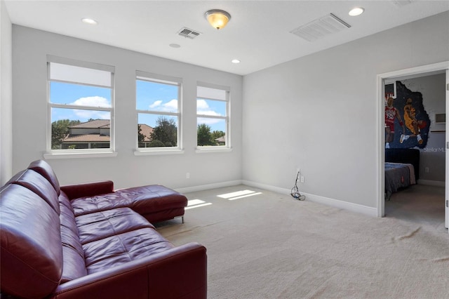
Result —
[[[435,114],[445,113],[446,111],[445,74],[435,74],[413,79],[398,79],[398,81],[401,81],[410,91],[417,91],[422,94],[424,109],[430,118],[427,146],[424,149],[420,149],[420,180],[444,182],[445,124],[435,124]],[[425,171],[426,168],[429,168],[428,173]]]

